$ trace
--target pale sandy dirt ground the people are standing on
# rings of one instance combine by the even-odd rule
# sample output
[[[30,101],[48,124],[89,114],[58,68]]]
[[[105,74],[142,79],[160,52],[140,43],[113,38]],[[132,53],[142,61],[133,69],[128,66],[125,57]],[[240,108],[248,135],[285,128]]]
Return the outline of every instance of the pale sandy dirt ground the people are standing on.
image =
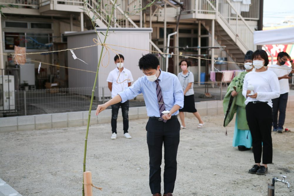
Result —
[[[272,133],[273,164],[265,176],[248,173],[254,164],[251,150],[232,147],[233,122],[225,136],[223,115],[203,117],[202,129],[196,119],[186,119],[174,195],[267,195],[267,184],[280,175],[291,187],[277,182],[275,195],[294,195],[293,115],[289,109],[285,122],[292,132]],[[122,122],[116,140],[110,139],[110,123],[90,127],[86,170],[103,188],[93,189],[94,195],[151,195],[146,122],[129,122],[132,139],[123,138]],[[85,133],[85,126],[0,133],[0,178],[24,196],[81,195]]]

